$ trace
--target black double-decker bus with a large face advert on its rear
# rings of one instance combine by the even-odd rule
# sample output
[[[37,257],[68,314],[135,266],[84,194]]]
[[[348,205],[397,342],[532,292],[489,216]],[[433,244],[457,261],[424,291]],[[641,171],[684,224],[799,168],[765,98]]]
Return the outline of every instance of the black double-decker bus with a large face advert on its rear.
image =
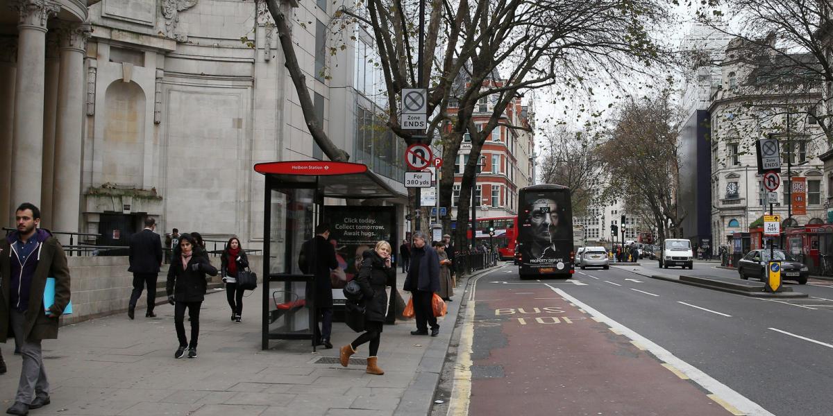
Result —
[[[569,191],[527,191],[519,202],[523,267],[533,273],[569,274],[573,250]]]

